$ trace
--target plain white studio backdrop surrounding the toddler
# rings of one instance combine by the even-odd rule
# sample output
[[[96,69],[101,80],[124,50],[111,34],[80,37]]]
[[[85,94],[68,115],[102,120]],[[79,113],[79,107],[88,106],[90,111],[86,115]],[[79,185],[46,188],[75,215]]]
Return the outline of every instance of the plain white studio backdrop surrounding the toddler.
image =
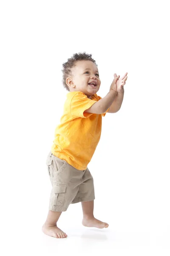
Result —
[[[170,255],[168,1],[0,2],[2,255]],[[92,53],[104,97],[128,72],[122,108],[102,119],[89,164],[96,218],[81,204],[59,219],[67,239],[42,233],[51,183],[46,157],[65,96],[62,63]]]

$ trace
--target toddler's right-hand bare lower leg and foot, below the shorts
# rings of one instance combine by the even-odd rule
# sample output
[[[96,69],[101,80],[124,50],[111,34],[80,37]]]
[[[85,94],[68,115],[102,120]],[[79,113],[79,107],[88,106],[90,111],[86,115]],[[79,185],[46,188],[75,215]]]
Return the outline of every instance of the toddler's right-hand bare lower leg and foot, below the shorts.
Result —
[[[97,228],[106,228],[108,227],[108,223],[99,221],[94,218],[94,201],[82,202],[82,212],[83,212],[83,220],[82,224],[85,227],[97,227]]]

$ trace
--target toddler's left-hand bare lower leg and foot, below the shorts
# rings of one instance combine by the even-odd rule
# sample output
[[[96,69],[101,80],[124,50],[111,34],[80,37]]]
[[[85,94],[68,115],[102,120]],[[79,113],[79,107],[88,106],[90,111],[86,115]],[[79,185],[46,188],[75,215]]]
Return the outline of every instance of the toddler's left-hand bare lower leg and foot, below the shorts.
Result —
[[[54,236],[56,238],[65,238],[67,235],[65,232],[57,227],[57,221],[62,212],[48,211],[47,219],[42,226],[42,231],[48,236]]]

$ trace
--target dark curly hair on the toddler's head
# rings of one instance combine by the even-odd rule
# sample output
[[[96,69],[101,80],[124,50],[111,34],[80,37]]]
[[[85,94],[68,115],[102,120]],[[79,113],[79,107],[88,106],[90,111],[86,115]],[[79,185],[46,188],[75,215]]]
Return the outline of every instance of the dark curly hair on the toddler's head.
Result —
[[[96,64],[96,61],[91,58],[91,56],[91,54],[87,54],[85,52],[74,53],[71,58],[68,58],[67,62],[62,64],[62,83],[66,90],[70,91],[65,80],[68,76],[71,76],[71,69],[76,65],[77,61],[92,61],[94,64]]]

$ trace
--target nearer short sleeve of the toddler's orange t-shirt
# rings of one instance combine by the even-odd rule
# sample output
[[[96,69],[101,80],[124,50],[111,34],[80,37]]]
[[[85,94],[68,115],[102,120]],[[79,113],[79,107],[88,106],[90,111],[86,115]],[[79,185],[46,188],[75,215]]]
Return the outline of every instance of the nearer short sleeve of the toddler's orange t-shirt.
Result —
[[[83,93],[76,93],[70,102],[70,111],[73,117],[84,117],[87,118],[93,113],[85,112],[88,108],[90,108],[94,103],[95,100],[88,99],[88,97]]]

